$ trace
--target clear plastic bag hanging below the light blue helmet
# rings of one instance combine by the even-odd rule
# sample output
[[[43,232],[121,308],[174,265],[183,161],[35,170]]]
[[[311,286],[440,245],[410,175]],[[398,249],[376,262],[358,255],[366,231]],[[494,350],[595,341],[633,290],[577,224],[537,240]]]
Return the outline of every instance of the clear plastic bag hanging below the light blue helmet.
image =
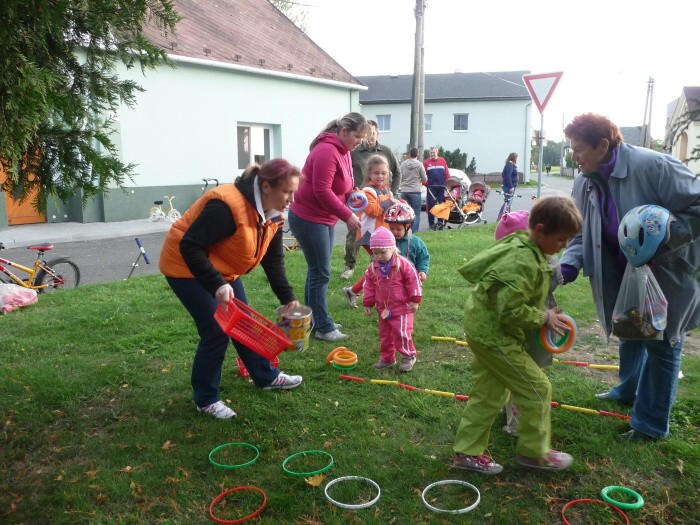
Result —
[[[620,339],[663,339],[668,302],[649,266],[627,264],[613,309],[612,331]]]

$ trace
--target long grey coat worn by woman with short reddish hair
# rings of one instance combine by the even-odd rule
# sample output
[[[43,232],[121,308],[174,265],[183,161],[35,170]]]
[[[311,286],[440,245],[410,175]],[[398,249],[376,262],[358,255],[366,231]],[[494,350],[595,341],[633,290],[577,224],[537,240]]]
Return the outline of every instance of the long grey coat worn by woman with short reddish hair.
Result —
[[[700,324],[700,276],[696,273],[700,264],[700,179],[674,157],[623,143],[609,185],[618,219],[644,204],[663,206],[675,218],[668,249],[650,264],[668,301],[666,335],[675,344],[685,331]],[[584,175],[574,181],[572,196],[584,223],[561,263],[583,269],[589,277],[598,317],[610,338],[622,274],[615,256],[601,249],[598,191],[596,183]]]

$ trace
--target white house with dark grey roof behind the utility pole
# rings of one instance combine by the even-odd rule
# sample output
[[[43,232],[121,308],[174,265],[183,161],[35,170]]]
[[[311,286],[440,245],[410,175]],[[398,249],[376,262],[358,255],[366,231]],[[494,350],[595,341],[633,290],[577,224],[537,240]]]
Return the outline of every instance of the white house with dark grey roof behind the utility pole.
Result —
[[[529,71],[425,75],[425,149],[460,149],[479,173],[500,172],[508,154],[530,165],[530,108],[523,82]],[[376,120],[379,142],[399,156],[411,136],[412,75],[360,76],[362,114]],[[422,152],[421,152],[422,153]],[[526,177],[529,174],[528,170]]]

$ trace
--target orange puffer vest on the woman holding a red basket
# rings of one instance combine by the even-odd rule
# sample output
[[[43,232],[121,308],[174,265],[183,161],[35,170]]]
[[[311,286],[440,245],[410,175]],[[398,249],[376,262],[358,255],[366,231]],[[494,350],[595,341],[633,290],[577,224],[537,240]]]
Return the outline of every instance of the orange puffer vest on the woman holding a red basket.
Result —
[[[209,261],[227,281],[250,272],[260,264],[282,221],[261,223],[257,210],[240,190],[233,184],[226,184],[205,193],[170,228],[163,241],[158,264],[163,275],[194,277],[180,254],[180,240],[212,199],[224,201],[230,208],[236,232],[208,247]]]

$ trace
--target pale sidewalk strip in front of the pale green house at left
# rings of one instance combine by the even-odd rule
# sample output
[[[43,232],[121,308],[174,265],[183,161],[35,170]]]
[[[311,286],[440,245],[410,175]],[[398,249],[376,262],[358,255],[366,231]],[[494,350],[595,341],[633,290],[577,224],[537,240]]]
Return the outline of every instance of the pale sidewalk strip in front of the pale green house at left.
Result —
[[[23,248],[43,242],[57,244],[166,232],[169,228],[168,221],[149,222],[148,219],[124,222],[20,224],[0,229],[0,242],[7,249]]]

